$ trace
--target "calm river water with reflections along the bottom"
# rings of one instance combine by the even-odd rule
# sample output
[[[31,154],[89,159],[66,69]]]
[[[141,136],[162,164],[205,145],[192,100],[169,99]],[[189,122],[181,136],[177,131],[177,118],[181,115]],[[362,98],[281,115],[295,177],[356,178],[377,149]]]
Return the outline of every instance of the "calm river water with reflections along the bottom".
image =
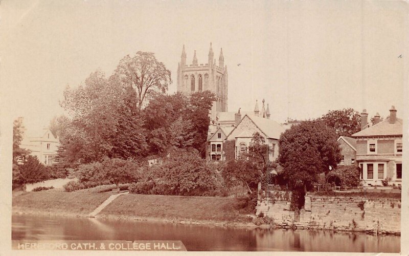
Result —
[[[188,251],[399,252],[400,237],[74,217],[12,216],[12,240],[180,240]]]

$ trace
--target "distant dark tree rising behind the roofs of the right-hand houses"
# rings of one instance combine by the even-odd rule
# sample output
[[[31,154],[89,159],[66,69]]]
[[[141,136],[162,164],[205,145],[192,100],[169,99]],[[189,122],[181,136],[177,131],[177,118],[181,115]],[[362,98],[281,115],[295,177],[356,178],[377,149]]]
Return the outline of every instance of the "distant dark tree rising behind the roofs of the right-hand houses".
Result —
[[[327,126],[332,127],[338,137],[351,137],[352,134],[359,132],[361,129],[360,114],[351,108],[328,111],[319,119],[323,120]]]

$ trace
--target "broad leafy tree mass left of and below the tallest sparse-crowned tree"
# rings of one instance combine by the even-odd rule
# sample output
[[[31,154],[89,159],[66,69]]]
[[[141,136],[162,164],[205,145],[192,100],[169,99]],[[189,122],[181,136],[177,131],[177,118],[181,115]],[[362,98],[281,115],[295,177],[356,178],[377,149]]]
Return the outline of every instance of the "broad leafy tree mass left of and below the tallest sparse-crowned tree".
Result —
[[[61,105],[72,116],[59,149],[61,161],[88,163],[104,157],[140,157],[146,150],[135,92],[99,71],[84,86],[67,88]]]

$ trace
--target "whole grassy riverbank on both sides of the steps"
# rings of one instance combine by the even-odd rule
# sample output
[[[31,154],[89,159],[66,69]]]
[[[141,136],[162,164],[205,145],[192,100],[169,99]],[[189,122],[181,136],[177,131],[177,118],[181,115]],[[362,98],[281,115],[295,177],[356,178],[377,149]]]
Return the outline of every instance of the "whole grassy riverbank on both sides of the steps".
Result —
[[[13,214],[86,217],[109,194],[41,191],[13,198]],[[237,198],[121,195],[96,217],[197,225],[257,227],[236,209]],[[263,227],[266,227],[264,225]]]

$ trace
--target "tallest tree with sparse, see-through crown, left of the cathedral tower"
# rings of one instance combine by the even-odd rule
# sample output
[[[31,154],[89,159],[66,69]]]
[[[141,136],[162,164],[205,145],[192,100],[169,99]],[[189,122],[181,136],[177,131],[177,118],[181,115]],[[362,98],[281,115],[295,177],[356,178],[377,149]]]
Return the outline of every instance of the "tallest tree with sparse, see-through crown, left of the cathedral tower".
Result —
[[[123,57],[110,78],[124,88],[137,92],[137,106],[142,109],[156,93],[165,93],[172,83],[170,71],[151,52],[137,52],[134,57]]]

